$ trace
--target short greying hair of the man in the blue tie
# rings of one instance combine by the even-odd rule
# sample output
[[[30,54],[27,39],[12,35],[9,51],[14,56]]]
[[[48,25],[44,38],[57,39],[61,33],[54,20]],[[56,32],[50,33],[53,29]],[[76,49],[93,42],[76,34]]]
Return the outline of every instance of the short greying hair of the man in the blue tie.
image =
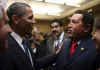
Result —
[[[21,2],[15,2],[15,3],[11,4],[7,9],[7,15],[8,15],[9,21],[12,20],[11,17],[13,15],[16,15],[16,16],[25,15],[26,7],[30,7],[30,6],[26,3],[21,3]]]

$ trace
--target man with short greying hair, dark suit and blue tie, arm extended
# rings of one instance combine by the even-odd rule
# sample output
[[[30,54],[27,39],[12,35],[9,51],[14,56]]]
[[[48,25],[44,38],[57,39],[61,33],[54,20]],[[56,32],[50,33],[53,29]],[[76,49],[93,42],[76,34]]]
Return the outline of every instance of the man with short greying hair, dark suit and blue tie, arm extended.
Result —
[[[32,9],[28,4],[11,4],[7,15],[13,32],[8,36],[8,65],[5,70],[36,70],[55,60],[55,53],[43,59],[35,59],[28,48],[29,43],[25,35],[31,34],[32,25],[35,23]]]

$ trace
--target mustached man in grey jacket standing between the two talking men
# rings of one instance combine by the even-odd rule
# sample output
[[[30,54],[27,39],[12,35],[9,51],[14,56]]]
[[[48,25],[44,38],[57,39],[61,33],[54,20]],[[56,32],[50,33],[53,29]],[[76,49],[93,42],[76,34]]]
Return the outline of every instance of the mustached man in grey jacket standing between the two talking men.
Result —
[[[59,19],[53,19],[50,23],[51,36],[47,39],[47,54],[56,52],[56,50],[62,46],[63,42],[67,40],[68,36],[65,34],[62,22]],[[50,70],[55,70],[56,63],[49,66]]]

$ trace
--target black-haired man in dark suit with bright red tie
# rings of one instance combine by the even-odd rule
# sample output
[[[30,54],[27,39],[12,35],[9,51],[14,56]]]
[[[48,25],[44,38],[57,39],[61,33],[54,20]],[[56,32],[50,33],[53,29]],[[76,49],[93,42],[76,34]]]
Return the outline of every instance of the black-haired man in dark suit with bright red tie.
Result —
[[[91,39],[93,23],[92,14],[87,11],[78,10],[72,15],[68,24],[70,39],[56,59],[56,70],[92,70],[96,57],[96,46]]]

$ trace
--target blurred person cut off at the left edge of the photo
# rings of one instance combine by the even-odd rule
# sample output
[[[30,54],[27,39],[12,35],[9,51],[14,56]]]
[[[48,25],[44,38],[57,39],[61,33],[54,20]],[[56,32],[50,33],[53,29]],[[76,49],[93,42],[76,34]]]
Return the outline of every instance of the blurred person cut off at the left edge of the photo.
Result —
[[[6,51],[8,49],[8,33],[11,32],[11,28],[7,25],[8,17],[4,8],[0,6],[0,70],[6,65]]]

